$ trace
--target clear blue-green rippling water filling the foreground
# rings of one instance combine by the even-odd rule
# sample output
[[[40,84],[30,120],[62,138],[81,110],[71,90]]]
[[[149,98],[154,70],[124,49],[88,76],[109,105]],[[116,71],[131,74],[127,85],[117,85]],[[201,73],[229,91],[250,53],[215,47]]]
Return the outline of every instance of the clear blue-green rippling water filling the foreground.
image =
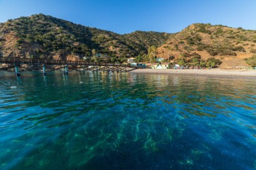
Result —
[[[0,169],[256,169],[255,79],[0,80]]]

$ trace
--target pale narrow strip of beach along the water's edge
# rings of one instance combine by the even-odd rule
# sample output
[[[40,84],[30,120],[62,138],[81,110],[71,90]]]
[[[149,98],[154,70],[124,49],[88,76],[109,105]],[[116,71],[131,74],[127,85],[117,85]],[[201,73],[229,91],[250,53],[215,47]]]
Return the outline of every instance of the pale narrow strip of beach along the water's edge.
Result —
[[[137,69],[132,70],[130,73],[155,73],[155,74],[185,74],[185,75],[207,75],[212,77],[252,77],[256,78],[256,70],[196,70],[196,69]]]

